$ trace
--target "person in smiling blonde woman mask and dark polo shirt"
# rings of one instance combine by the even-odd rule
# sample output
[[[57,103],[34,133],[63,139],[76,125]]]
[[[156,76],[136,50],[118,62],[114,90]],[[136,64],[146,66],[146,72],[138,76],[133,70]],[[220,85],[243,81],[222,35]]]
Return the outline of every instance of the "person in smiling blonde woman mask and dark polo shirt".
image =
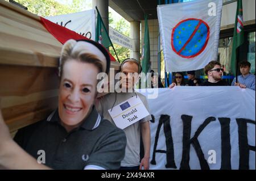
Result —
[[[94,107],[97,75],[109,73],[109,66],[102,45],[68,40],[60,56],[58,107],[47,119],[20,129],[14,142],[0,107],[0,168],[119,169],[125,156],[125,132],[104,120]]]

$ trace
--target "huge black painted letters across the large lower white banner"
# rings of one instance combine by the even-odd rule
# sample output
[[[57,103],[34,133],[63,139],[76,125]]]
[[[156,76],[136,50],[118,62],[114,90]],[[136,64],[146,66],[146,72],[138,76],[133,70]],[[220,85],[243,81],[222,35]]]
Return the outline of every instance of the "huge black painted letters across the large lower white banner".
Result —
[[[155,123],[154,115],[151,115],[151,123]],[[190,145],[193,145],[195,148],[197,157],[199,158],[200,167],[202,170],[209,170],[209,165],[207,160],[204,157],[203,150],[199,144],[198,137],[200,133],[204,130],[205,127],[211,122],[215,121],[215,117],[208,117],[205,119],[204,123],[197,128],[195,135],[191,138],[191,122],[192,116],[181,115],[183,121],[183,151],[182,158],[180,163],[180,170],[190,170],[189,166],[189,154],[190,154]],[[174,159],[174,142],[172,138],[172,131],[170,125],[170,116],[161,115],[159,119],[158,128],[156,129],[155,134],[155,143],[152,153],[151,164],[156,165],[155,156],[156,153],[165,153],[167,158],[166,168],[176,169],[175,159]],[[231,144],[230,144],[230,118],[229,117],[218,117],[218,121],[221,126],[221,170],[230,170],[231,166]],[[247,137],[247,124],[254,124],[255,121],[249,119],[236,119],[238,125],[238,145],[239,145],[239,169],[248,170],[249,169],[249,153],[255,151],[255,146],[249,145]],[[164,136],[166,137],[166,150],[156,150],[158,146],[159,133],[163,125]]]

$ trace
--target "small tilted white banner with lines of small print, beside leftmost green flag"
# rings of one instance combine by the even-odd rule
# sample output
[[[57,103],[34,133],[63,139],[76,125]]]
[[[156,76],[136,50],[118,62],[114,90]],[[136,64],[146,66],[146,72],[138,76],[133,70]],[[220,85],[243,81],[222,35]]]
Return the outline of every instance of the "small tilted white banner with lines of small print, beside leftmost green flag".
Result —
[[[117,30],[114,30],[112,27],[109,27],[109,37],[113,43],[134,50],[133,40],[118,32]]]

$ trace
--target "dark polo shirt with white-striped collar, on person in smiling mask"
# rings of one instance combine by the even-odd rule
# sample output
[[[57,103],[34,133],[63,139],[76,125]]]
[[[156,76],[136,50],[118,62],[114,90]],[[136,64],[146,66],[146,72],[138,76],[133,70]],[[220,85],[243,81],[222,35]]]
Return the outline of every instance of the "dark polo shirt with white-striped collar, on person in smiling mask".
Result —
[[[94,107],[69,133],[55,110],[47,120],[20,129],[14,140],[36,159],[44,151],[45,165],[52,169],[119,169],[126,146],[125,133],[102,119]]]

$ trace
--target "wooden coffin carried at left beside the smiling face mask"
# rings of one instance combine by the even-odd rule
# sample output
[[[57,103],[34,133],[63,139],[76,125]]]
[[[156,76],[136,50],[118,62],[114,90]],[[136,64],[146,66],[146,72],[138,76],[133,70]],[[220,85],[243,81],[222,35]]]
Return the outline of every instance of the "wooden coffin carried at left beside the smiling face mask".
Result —
[[[10,132],[57,107],[61,46],[39,16],[0,0],[0,107]],[[111,67],[118,70],[119,63]]]

